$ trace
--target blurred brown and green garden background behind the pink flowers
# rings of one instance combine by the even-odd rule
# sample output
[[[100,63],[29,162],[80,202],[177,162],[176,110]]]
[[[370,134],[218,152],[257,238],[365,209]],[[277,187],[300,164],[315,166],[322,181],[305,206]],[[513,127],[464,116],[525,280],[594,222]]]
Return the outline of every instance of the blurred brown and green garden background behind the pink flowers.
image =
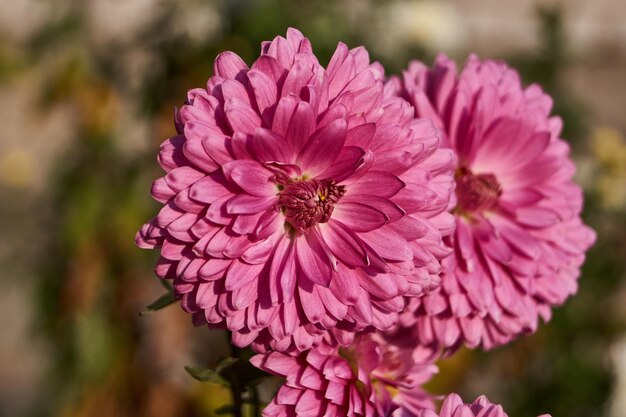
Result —
[[[555,99],[586,221],[578,295],[532,337],[442,362],[433,392],[511,417],[626,416],[626,4],[623,0],[0,2],[0,416],[213,416],[229,391],[185,365],[229,354],[133,244],[153,216],[158,145],[217,53],[248,63],[301,29],[326,63],[364,44],[389,73],[444,51],[507,59]]]

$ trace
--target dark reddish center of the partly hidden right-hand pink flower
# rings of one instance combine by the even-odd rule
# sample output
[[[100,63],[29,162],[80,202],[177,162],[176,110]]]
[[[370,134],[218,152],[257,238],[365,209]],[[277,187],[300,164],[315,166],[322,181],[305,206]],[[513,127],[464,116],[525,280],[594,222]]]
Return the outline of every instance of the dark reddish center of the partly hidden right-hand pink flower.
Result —
[[[493,174],[473,174],[467,168],[459,168],[455,179],[457,209],[462,212],[489,210],[502,194],[502,187]]]

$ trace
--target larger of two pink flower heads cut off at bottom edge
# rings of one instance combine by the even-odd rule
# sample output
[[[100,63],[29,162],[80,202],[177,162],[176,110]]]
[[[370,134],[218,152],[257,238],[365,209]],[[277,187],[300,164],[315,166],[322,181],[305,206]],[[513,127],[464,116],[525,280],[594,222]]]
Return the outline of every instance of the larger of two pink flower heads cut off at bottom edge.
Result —
[[[421,386],[437,372],[437,354],[402,342],[364,334],[349,347],[322,343],[295,357],[254,356],[255,366],[286,378],[263,416],[413,416],[433,408],[433,398]]]

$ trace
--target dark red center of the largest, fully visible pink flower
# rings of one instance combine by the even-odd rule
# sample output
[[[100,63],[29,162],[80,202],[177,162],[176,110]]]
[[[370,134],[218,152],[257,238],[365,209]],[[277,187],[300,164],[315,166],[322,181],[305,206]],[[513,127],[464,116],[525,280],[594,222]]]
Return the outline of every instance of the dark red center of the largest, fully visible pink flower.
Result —
[[[291,226],[299,232],[330,220],[335,204],[345,194],[344,185],[332,180],[286,181],[278,205]]]

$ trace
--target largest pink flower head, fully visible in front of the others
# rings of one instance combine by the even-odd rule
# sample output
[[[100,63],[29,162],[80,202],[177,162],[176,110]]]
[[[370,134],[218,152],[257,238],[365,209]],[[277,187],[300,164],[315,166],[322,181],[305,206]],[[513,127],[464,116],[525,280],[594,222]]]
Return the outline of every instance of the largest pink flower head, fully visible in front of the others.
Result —
[[[196,324],[257,351],[395,324],[451,252],[453,152],[384,97],[363,48],[339,44],[324,69],[290,29],[251,68],[231,52],[214,67],[161,146],[164,207],[136,238],[160,247],[157,275]]]

